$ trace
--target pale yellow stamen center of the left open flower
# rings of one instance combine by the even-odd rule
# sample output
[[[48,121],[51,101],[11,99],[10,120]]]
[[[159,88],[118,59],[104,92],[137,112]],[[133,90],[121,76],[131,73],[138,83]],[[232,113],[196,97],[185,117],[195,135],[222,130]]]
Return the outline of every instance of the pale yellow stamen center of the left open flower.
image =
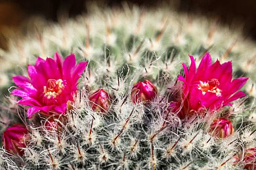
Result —
[[[47,87],[43,86],[44,97],[47,99],[56,98],[62,93],[62,90],[65,86],[63,85],[63,81],[61,79],[49,79],[47,82]]]

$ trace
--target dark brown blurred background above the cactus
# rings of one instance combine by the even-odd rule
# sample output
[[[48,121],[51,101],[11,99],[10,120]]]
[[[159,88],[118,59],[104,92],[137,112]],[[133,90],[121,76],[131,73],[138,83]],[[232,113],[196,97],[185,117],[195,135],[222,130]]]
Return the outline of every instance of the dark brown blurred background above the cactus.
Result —
[[[48,20],[58,21],[58,14],[65,11],[69,17],[86,13],[88,0],[0,0],[0,48],[7,49],[11,36],[6,30],[19,31],[26,19],[39,15]],[[154,8],[159,0],[128,0],[128,4],[137,4]],[[174,0],[165,1],[172,4]],[[171,2],[171,3],[170,3]],[[97,0],[101,6],[121,6],[121,0]],[[209,17],[217,17],[224,24],[234,22],[243,26],[243,33],[256,40],[256,0],[175,0],[177,11]]]

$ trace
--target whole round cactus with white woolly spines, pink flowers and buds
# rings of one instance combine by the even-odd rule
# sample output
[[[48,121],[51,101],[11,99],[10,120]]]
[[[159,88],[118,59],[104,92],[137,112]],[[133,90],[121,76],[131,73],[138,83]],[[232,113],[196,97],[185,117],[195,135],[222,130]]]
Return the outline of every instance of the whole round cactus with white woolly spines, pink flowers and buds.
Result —
[[[164,7],[88,9],[0,51],[1,169],[256,169],[253,41]]]

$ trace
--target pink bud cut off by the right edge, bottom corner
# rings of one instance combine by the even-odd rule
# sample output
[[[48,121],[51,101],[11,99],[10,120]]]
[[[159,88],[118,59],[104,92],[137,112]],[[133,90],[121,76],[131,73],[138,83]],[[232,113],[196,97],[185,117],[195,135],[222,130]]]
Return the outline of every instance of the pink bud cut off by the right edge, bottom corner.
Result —
[[[243,163],[245,164],[245,170],[256,170],[256,148],[250,148],[245,151]]]

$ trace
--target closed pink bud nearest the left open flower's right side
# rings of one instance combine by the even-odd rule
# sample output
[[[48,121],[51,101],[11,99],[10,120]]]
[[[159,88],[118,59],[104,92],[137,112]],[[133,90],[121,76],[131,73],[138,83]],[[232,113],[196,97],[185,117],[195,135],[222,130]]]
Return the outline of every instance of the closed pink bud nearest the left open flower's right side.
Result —
[[[98,89],[89,97],[92,109],[96,112],[102,113],[106,113],[108,111],[110,100],[111,98],[109,94],[103,89]]]

